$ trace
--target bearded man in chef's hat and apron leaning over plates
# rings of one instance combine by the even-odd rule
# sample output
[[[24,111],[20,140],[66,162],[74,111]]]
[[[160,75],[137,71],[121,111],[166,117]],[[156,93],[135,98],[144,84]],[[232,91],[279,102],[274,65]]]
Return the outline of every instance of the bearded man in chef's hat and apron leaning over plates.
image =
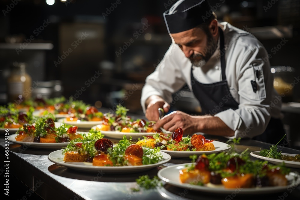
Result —
[[[283,136],[281,97],[273,88],[268,53],[250,33],[219,23],[207,0],[179,0],[164,13],[172,44],[146,78],[141,105],[160,127],[184,134],[252,138],[276,144]],[[185,84],[204,115],[169,112]]]

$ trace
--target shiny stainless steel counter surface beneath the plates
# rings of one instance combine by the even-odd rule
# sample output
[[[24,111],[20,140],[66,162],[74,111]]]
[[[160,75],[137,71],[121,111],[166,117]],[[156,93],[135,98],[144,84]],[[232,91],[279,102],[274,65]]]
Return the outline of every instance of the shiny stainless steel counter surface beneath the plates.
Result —
[[[208,138],[208,136],[207,136]],[[209,137],[225,142],[225,139],[217,138],[215,136]],[[16,177],[19,181],[31,188],[36,194],[43,199],[64,199],[64,200],[98,200],[98,199],[232,199],[233,196],[217,195],[209,193],[200,193],[191,190],[186,190],[178,187],[173,187],[169,184],[164,184],[163,187],[156,189],[145,190],[139,192],[132,192],[131,188],[137,187],[135,179],[139,175],[148,174],[151,178],[157,175],[157,172],[164,167],[174,164],[189,163],[190,159],[175,159],[173,158],[169,163],[159,166],[155,169],[145,172],[132,174],[108,174],[104,172],[86,173],[78,172],[66,167],[58,166],[48,160],[47,155],[52,152],[49,150],[30,149],[25,146],[9,142],[9,159],[4,160],[4,135],[0,139],[0,154],[2,157],[2,170],[4,165],[9,163],[9,176]],[[263,148],[268,148],[270,144],[259,142],[255,140],[242,141],[240,145],[236,146],[237,151],[244,151],[250,148],[249,151],[259,151]],[[283,148],[284,153],[300,154],[300,151]],[[253,158],[254,159],[254,158]],[[9,161],[9,162],[5,162]],[[300,172],[300,169],[292,168],[292,171]],[[3,172],[3,171],[2,171]],[[2,176],[4,173],[2,173]],[[2,190],[3,191],[3,190]],[[234,199],[299,199],[300,186],[286,191],[286,194],[272,193],[267,195],[239,195],[235,194]],[[17,193],[18,188],[10,185],[10,194]],[[31,191],[30,191],[31,192]],[[24,193],[23,199],[30,199],[30,192]],[[287,195],[287,196],[284,196]]]

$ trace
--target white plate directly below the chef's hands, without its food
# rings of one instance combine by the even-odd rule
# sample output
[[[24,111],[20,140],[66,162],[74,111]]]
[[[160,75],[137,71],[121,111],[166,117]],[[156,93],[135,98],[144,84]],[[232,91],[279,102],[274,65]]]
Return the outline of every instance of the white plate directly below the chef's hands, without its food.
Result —
[[[101,131],[102,133],[102,131]],[[225,151],[227,149],[230,149],[231,147],[224,143],[224,142],[219,142],[219,141],[213,141],[214,147],[216,150],[213,151],[169,151],[169,150],[160,150],[162,152],[165,152],[172,156],[173,158],[188,158],[190,155],[201,155],[201,154],[213,154],[213,153],[218,153]]]

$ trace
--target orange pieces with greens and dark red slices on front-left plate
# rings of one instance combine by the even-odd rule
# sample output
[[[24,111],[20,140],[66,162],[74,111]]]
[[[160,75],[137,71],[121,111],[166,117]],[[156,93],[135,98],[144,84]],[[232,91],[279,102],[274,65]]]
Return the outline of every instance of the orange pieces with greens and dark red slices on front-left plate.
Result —
[[[93,166],[139,166],[163,160],[158,149],[142,148],[125,137],[116,145],[109,139],[76,139],[64,150],[64,162],[92,163]]]

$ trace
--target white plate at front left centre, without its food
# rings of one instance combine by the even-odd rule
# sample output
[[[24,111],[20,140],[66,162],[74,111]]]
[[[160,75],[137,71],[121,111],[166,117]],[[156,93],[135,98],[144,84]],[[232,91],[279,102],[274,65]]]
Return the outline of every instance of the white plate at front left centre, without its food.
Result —
[[[101,170],[102,172],[113,172],[113,173],[132,173],[132,172],[141,172],[146,171],[157,166],[160,166],[164,163],[167,163],[171,160],[171,157],[164,153],[160,152],[163,155],[163,160],[150,165],[139,165],[139,166],[93,166],[92,163],[78,163],[78,162],[64,162],[64,154],[62,154],[63,149],[53,151],[48,155],[48,159],[53,163],[56,163],[61,166],[68,167],[70,169],[75,169],[83,172],[98,172]]]

